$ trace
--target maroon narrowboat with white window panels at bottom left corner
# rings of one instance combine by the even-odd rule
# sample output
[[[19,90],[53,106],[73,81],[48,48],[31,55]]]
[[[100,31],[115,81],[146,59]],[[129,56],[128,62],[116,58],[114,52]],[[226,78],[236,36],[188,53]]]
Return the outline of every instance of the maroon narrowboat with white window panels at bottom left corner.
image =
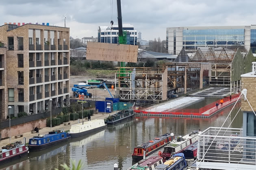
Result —
[[[0,165],[27,155],[28,147],[21,141],[8,144],[0,149]]]

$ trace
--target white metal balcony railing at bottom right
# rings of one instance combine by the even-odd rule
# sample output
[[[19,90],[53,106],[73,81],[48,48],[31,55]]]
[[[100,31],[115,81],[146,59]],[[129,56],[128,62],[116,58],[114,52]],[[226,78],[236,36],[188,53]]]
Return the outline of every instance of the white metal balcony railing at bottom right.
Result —
[[[243,129],[208,127],[198,136],[199,168],[204,162],[256,165],[256,138],[242,137]]]

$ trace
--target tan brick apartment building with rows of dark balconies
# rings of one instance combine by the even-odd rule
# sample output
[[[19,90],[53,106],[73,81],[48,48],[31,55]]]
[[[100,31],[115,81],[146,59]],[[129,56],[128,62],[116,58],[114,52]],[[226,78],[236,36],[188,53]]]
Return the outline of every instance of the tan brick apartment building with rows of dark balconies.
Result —
[[[0,26],[0,121],[69,104],[69,28]]]

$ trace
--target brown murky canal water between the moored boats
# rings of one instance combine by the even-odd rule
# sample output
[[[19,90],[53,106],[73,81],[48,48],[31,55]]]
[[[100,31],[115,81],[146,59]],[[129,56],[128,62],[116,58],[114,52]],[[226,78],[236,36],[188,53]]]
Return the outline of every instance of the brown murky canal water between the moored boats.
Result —
[[[224,127],[228,127],[241,104],[232,111]],[[205,130],[209,126],[221,127],[229,106],[208,119],[180,117],[135,117],[129,122],[108,127],[89,136],[74,138],[69,142],[40,152],[30,152],[28,157],[13,161],[0,169],[4,170],[50,170],[62,169],[60,164],[76,164],[80,159],[84,169],[113,170],[113,164],[127,169],[132,165],[133,148],[161,134],[173,132],[175,136],[184,136],[193,130]],[[242,127],[243,115],[240,113],[230,127]],[[27,139],[28,140],[28,139]]]

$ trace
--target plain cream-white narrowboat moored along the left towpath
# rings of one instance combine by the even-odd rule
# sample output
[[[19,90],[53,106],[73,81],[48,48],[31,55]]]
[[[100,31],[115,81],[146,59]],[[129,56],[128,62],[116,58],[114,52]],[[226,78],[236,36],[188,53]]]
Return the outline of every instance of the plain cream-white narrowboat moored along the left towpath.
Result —
[[[71,125],[69,134],[72,138],[78,138],[80,136],[84,136],[97,130],[104,129],[106,128],[106,126],[107,125],[105,124],[103,119],[94,119],[91,121],[85,121],[82,123]]]

